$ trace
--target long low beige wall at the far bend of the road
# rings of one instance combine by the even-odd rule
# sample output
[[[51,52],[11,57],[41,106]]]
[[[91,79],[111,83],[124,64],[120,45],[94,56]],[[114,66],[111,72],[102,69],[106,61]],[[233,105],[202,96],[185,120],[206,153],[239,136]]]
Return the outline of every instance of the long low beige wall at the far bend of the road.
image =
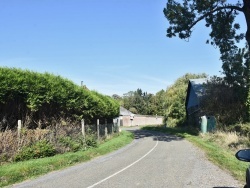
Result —
[[[121,116],[121,126],[140,126],[140,125],[161,125],[163,124],[163,116],[143,116],[135,115],[133,120],[131,116]]]

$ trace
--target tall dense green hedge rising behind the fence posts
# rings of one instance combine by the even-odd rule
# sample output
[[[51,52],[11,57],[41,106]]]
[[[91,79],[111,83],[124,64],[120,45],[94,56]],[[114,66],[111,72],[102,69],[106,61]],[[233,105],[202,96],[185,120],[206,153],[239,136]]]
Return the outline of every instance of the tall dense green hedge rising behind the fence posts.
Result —
[[[16,125],[17,119],[45,126],[52,119],[113,118],[119,104],[61,76],[0,67],[0,110],[3,129]]]

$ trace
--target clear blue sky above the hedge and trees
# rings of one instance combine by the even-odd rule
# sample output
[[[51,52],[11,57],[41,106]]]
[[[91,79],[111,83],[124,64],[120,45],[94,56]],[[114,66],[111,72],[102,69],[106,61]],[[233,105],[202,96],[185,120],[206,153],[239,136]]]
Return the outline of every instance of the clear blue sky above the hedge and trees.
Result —
[[[166,37],[166,0],[0,0],[0,66],[50,72],[102,94],[155,94],[185,73],[221,75],[204,24]]]

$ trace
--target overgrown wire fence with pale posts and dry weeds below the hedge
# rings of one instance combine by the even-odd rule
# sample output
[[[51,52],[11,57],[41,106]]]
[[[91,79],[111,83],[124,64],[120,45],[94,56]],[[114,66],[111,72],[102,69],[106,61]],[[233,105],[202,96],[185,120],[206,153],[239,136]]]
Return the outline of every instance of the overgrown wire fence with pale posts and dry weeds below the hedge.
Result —
[[[0,132],[0,164],[13,161],[23,148],[41,141],[52,144],[56,153],[65,153],[91,147],[117,132],[117,123],[99,124],[99,120],[90,125],[85,125],[84,120],[77,124],[58,123],[45,129],[27,129],[19,120],[16,130]]]

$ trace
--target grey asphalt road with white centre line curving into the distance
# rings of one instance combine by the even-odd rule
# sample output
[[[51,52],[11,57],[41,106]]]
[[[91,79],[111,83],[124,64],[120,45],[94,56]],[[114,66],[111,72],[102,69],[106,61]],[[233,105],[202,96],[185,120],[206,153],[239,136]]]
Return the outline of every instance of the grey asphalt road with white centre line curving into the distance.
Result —
[[[181,138],[131,129],[135,141],[111,154],[12,187],[241,187]]]

